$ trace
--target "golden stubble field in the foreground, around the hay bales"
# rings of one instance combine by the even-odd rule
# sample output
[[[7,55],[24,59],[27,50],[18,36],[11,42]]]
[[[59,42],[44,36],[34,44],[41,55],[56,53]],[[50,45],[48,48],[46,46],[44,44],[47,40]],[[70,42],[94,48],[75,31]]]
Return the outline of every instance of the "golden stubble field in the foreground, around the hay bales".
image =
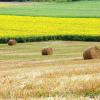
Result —
[[[82,57],[95,44],[100,47],[99,42],[76,41],[0,44],[0,99],[99,100],[100,60]],[[48,46],[53,55],[42,56]]]

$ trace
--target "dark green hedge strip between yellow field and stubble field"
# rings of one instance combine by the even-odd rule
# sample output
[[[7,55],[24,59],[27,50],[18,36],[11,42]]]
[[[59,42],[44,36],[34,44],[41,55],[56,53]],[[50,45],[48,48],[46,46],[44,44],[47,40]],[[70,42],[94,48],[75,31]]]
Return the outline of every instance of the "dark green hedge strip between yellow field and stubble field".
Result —
[[[64,41],[97,41],[100,42],[100,36],[79,36],[79,35],[56,35],[56,36],[37,36],[37,37],[17,37],[13,38],[17,42],[40,42],[49,40],[64,40]],[[7,43],[10,38],[0,38],[0,43]]]

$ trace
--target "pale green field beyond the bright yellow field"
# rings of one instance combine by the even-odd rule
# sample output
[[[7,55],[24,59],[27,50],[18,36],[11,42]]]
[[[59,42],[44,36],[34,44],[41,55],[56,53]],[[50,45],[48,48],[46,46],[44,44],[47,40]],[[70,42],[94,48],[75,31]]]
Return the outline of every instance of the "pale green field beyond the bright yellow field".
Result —
[[[100,17],[100,1],[31,3],[0,8],[0,14],[53,17]]]

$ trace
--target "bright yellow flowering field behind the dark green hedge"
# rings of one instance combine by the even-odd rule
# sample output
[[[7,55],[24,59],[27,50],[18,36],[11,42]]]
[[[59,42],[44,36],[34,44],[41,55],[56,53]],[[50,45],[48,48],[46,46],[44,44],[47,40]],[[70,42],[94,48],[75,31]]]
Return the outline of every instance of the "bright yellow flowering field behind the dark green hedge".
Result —
[[[51,35],[100,36],[100,19],[0,15],[1,38]]]

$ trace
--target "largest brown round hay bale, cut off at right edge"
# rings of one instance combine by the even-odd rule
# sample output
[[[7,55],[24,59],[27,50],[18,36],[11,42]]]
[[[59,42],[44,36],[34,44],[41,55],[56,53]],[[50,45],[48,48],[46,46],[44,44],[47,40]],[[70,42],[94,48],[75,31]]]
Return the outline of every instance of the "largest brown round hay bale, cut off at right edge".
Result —
[[[84,60],[87,59],[100,59],[100,49],[96,46],[88,48],[83,53]]]

